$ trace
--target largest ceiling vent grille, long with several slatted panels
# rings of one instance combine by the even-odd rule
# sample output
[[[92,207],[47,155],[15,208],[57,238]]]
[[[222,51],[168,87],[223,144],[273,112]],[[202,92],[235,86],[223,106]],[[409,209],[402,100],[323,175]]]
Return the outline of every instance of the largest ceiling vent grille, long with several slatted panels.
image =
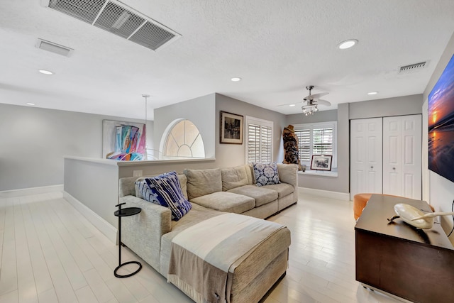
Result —
[[[49,0],[48,6],[151,50],[157,50],[181,36],[118,1]]]

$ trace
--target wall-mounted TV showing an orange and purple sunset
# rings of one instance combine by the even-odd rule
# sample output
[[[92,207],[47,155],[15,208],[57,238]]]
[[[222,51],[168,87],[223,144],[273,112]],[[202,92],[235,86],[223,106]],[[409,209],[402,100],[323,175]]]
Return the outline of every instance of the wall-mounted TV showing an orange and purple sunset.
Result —
[[[454,182],[454,55],[428,95],[428,169]]]

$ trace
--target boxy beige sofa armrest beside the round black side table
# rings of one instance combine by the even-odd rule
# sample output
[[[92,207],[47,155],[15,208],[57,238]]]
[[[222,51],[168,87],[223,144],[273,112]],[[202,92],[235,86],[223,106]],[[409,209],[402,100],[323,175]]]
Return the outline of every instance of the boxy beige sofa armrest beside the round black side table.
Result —
[[[172,212],[131,195],[121,197],[120,203],[123,202],[124,207],[140,207],[142,211],[122,218],[121,242],[159,272],[161,236],[172,230]]]

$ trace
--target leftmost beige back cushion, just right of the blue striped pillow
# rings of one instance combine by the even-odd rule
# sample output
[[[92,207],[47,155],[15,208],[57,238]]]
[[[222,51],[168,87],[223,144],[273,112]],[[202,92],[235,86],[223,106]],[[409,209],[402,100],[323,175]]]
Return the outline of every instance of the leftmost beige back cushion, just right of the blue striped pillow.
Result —
[[[213,170],[184,170],[187,177],[187,197],[196,197],[222,191],[221,169]]]

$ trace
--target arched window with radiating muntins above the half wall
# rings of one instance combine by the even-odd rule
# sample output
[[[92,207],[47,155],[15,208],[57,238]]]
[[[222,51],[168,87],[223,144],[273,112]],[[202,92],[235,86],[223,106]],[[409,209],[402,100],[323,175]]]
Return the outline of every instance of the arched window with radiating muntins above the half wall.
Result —
[[[205,158],[204,141],[199,128],[187,119],[174,121],[167,127],[164,157]]]

